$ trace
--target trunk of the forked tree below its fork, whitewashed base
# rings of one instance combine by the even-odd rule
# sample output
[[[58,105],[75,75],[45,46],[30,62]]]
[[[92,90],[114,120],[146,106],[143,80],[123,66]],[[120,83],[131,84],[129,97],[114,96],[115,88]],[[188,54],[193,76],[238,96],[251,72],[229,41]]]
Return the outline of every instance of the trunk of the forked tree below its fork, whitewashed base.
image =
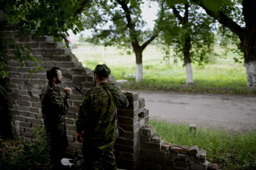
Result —
[[[136,55],[136,83],[143,80],[142,50],[134,49]]]

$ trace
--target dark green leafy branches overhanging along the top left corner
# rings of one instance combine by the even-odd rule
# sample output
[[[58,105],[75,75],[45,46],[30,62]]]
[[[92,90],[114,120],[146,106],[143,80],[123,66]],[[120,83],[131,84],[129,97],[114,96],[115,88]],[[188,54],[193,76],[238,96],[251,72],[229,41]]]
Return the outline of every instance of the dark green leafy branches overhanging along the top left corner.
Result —
[[[2,0],[0,9],[10,24],[17,24],[20,36],[29,35],[35,30],[32,38],[56,31],[74,34],[82,28],[78,15],[75,14],[76,0]],[[76,28],[76,27],[77,28]]]

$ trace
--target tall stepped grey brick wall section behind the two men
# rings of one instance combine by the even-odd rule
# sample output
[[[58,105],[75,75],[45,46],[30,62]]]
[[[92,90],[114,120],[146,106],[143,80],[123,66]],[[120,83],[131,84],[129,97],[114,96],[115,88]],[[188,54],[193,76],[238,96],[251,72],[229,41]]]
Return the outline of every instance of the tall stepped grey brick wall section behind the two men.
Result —
[[[54,37],[43,36],[32,40],[31,36],[19,37],[17,26],[6,25],[0,31],[3,38],[12,38],[18,45],[29,46],[33,50],[30,53],[41,63],[30,62],[29,66],[43,67],[42,71],[37,71],[29,77],[28,71],[31,67],[20,68],[21,63],[14,59],[14,49],[7,48],[4,53],[8,56],[9,75],[5,79],[5,88],[8,92],[8,107],[12,123],[12,130],[15,138],[20,138],[32,142],[34,140],[33,130],[43,125],[41,116],[41,104],[39,93],[47,83],[46,70],[49,67],[60,67],[62,70],[63,87],[72,88],[74,84],[83,87],[84,91],[94,87],[92,73],[88,68],[84,68],[82,63],[71,53],[70,49],[62,49],[62,42],[54,42]],[[68,140],[74,142],[74,125],[78,106],[81,103],[82,95],[72,88],[72,95],[69,113],[66,115],[66,127]],[[73,148],[68,148],[68,152],[74,152]]]

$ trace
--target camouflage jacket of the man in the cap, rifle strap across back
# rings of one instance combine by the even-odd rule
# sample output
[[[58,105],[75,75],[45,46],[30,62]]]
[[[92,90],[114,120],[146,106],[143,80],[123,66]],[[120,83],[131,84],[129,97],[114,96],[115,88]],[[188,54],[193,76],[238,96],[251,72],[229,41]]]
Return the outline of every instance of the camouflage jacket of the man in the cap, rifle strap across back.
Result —
[[[126,96],[111,83],[101,83],[107,87],[116,100],[117,108],[129,105]],[[76,132],[84,132],[84,141],[100,149],[114,144],[118,137],[116,113],[111,98],[106,89],[94,87],[88,90],[80,105],[76,120]]]

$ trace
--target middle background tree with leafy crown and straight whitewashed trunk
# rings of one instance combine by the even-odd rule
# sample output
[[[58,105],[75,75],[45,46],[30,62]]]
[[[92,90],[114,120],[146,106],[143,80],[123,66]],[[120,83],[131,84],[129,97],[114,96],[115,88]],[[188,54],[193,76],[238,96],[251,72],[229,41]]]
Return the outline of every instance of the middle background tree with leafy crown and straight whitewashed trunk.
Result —
[[[214,34],[213,19],[200,11],[197,5],[185,1],[184,4],[169,4],[159,0],[162,20],[157,21],[161,30],[159,35],[163,45],[173,46],[175,56],[184,61],[187,72],[187,84],[193,83],[193,61],[207,63],[209,54],[213,53]],[[167,48],[169,49],[169,47]],[[169,51],[167,54],[170,55]]]

